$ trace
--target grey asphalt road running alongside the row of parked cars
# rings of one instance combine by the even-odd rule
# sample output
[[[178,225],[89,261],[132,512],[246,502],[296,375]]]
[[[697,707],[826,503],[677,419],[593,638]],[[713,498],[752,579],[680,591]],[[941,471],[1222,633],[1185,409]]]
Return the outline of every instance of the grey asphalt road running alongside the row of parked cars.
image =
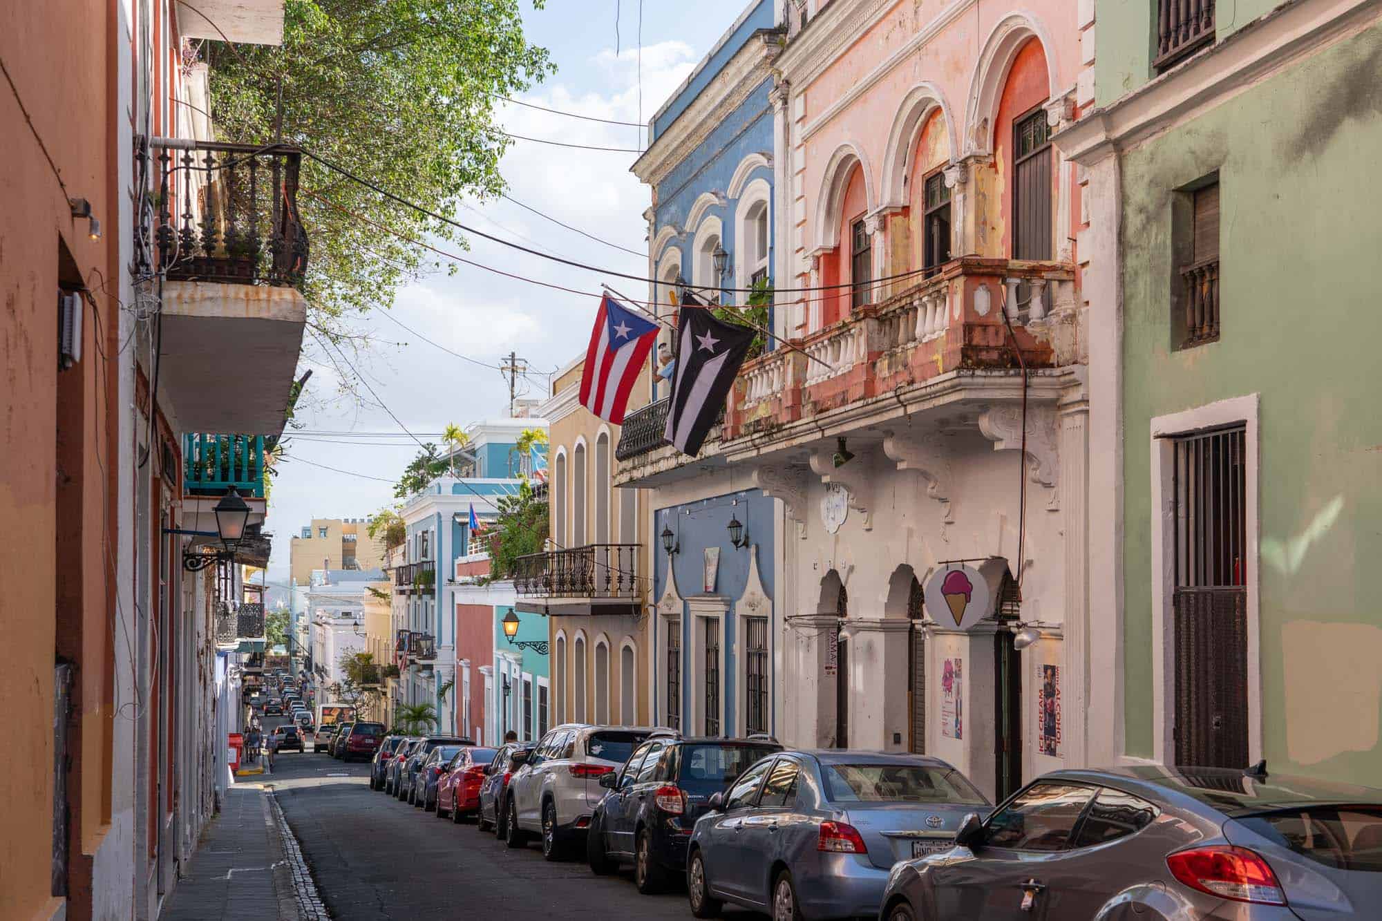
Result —
[[[684,889],[643,896],[627,871],[601,878],[583,860],[547,863],[536,842],[509,850],[493,832],[372,791],[368,777],[369,765],[325,752],[283,752],[265,777],[337,921],[691,918]]]

